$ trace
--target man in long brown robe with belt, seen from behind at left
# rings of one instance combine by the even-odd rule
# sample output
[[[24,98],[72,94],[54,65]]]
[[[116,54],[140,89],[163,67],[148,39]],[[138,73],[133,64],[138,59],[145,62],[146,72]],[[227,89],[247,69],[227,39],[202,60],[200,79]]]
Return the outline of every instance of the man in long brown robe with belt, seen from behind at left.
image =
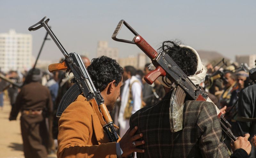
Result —
[[[52,113],[52,100],[49,89],[39,82],[41,78],[42,72],[34,69],[29,83],[21,88],[9,118],[16,120],[21,111],[20,126],[25,158],[46,158],[46,148],[50,145],[45,119]]]

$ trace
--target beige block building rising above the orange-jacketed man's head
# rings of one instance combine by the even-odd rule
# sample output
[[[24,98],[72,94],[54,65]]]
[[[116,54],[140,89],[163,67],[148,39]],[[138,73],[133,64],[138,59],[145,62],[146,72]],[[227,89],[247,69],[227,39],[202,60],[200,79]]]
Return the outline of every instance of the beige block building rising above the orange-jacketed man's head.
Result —
[[[97,56],[108,56],[118,60],[119,51],[117,48],[109,48],[107,41],[99,41],[97,46]]]

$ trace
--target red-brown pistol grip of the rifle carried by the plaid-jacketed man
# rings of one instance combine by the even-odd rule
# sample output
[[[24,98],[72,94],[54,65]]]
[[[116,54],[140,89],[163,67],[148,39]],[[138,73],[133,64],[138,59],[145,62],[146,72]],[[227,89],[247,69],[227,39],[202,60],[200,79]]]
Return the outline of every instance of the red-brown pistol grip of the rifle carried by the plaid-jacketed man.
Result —
[[[166,72],[161,66],[157,66],[155,70],[149,72],[145,77],[145,81],[152,85],[153,82],[159,77],[159,76],[165,76]]]

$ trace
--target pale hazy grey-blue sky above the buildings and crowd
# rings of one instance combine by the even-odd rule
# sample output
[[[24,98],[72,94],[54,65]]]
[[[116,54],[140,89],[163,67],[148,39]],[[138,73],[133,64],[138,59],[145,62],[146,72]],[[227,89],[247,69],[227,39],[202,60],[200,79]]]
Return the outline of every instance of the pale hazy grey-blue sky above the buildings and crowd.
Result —
[[[165,40],[179,39],[196,50],[213,50],[231,59],[256,53],[256,1],[153,1],[153,0],[0,0],[0,33],[15,29],[33,36],[36,56],[44,35],[42,27],[28,27],[44,16],[68,52],[96,57],[98,41],[108,41],[119,49],[119,56],[141,52],[136,45],[113,41],[117,23],[124,19],[157,49]],[[121,37],[132,40],[123,29]],[[122,30],[121,30],[122,32]],[[46,41],[40,59],[63,57],[55,43]]]

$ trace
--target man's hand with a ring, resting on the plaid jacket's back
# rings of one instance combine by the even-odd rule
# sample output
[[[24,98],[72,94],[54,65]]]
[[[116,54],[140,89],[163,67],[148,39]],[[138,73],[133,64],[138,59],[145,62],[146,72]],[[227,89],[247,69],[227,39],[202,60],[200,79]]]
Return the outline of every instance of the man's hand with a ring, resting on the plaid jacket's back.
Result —
[[[128,129],[126,131],[126,133],[124,134],[124,136],[119,141],[120,147],[123,151],[122,157],[127,157],[130,154],[132,154],[133,152],[137,152],[137,153],[144,153],[145,152],[144,149],[136,148],[136,146],[145,144],[144,140],[135,141],[137,139],[140,139],[143,136],[142,133],[134,135],[137,130],[138,130],[137,126],[135,126],[132,130]]]

